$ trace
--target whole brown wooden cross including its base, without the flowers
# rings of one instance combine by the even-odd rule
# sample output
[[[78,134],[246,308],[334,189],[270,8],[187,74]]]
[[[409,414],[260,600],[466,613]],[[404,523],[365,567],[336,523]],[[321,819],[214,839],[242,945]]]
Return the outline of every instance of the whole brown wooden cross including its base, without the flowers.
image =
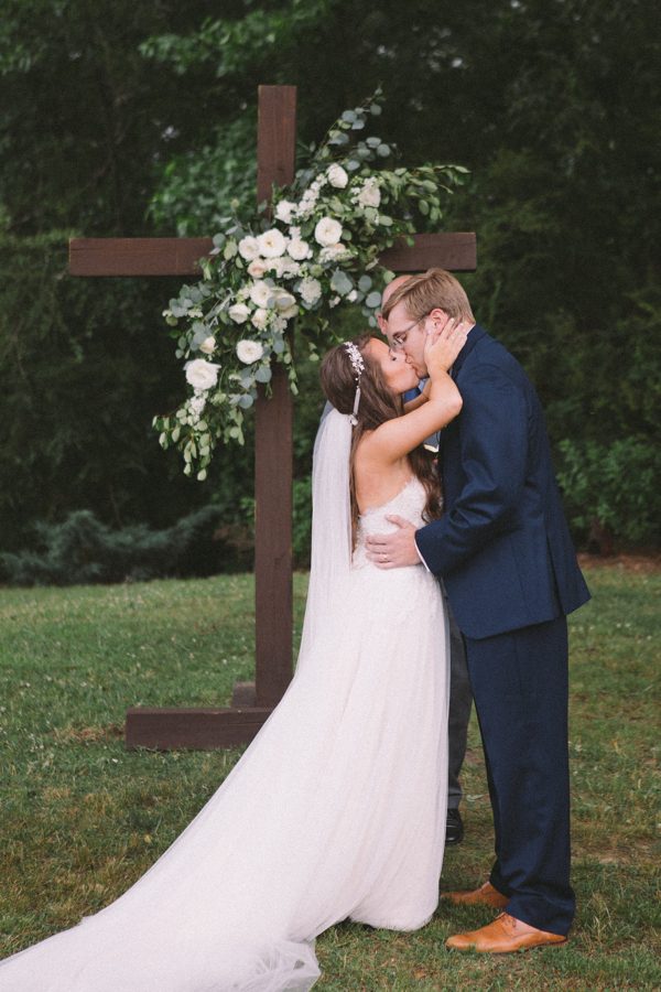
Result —
[[[296,87],[260,86],[257,198],[294,177]],[[73,238],[72,276],[199,276],[197,260],[210,238]],[[415,235],[380,261],[392,271],[432,266],[454,271],[476,267],[475,234]],[[134,707],[127,712],[130,747],[229,747],[251,741],[292,678],[292,423],[286,373],[273,367],[272,396],[256,403],[256,679],[237,683],[229,708]]]

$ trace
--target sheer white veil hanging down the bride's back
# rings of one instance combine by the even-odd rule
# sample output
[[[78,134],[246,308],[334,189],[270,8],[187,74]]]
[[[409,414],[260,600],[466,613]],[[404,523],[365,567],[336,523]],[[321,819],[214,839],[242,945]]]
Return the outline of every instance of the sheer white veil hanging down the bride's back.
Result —
[[[351,564],[349,494],[351,423],[334,407],[324,412],[312,467],[312,561],[299,666],[324,625],[337,618]]]

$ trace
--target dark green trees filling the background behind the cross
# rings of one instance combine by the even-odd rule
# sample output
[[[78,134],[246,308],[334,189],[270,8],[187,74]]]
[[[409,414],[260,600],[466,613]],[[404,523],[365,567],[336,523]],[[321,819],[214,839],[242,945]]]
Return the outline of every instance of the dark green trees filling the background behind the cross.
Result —
[[[445,227],[477,231],[464,282],[538,386],[576,533],[658,543],[660,47],[652,0],[4,0],[0,549],[79,509],[249,522],[249,448],[201,485],[151,430],[183,391],[172,283],[74,280],[66,240],[213,234],[250,204],[259,83],[299,86],[303,144],[381,84],[408,163],[472,170]],[[302,547],[319,407],[311,368]]]

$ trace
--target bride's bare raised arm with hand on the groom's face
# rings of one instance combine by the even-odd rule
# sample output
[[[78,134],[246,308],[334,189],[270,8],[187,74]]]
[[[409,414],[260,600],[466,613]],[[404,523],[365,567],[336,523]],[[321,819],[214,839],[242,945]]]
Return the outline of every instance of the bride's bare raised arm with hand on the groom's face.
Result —
[[[426,401],[415,409],[405,408],[403,417],[388,420],[365,438],[361,444],[364,456],[379,462],[395,462],[460,412],[462,396],[448,369],[464,347],[472,326],[448,321],[436,337],[427,337],[424,351],[430,374]]]

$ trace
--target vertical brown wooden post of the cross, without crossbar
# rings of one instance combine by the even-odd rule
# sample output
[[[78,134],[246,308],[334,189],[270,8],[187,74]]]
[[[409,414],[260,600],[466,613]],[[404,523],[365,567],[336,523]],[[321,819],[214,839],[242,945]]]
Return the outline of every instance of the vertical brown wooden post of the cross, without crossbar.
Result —
[[[257,198],[294,177],[296,87],[260,86]],[[292,430],[286,370],[274,365],[273,395],[256,409],[256,704],[274,707],[292,678]]]

